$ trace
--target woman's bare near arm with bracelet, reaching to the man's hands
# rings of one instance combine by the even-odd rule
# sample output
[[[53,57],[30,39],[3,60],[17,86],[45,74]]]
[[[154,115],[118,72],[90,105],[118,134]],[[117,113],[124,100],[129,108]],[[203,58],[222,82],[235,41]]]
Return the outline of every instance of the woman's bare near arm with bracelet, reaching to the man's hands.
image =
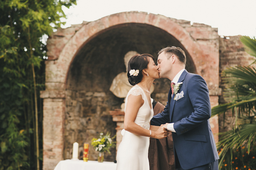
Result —
[[[167,136],[167,131],[163,128],[159,128],[158,130],[151,131],[147,130],[136,123],[134,123],[137,113],[140,107],[143,105],[144,100],[141,95],[129,95],[127,96],[127,105],[125,109],[125,119],[124,119],[124,128],[125,130],[134,133],[135,135],[141,136],[151,136],[151,138],[165,138]],[[163,125],[161,125],[163,126]]]

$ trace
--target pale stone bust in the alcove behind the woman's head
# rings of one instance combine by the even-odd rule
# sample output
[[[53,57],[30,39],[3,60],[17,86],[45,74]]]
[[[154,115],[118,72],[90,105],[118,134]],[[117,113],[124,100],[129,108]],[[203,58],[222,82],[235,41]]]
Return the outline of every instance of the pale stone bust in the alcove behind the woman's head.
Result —
[[[137,54],[136,51],[129,51],[125,54],[124,62],[126,67],[126,72],[121,72],[113,79],[113,82],[110,86],[110,91],[113,92],[113,94],[118,98],[125,98],[129,90],[131,89],[132,85],[128,81],[127,77],[127,69],[128,69],[128,62],[134,56]],[[154,91],[154,86],[151,86],[150,92],[152,93]],[[125,101],[125,99],[124,99]],[[125,104],[122,103],[121,110],[124,111]]]

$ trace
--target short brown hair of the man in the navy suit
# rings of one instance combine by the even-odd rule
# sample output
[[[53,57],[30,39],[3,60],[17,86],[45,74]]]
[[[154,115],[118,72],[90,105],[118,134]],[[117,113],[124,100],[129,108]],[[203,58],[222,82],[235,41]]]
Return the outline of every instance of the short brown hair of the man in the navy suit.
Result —
[[[160,55],[162,52],[165,52],[165,54],[167,55],[167,60],[169,60],[170,57],[172,57],[172,55],[176,55],[179,61],[186,66],[186,55],[185,52],[180,47],[168,46],[166,48],[161,49],[158,52],[158,55]]]

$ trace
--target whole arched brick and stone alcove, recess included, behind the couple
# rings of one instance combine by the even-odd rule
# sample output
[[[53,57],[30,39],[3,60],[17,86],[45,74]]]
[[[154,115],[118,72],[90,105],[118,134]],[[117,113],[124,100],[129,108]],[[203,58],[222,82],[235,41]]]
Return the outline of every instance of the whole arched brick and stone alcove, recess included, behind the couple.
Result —
[[[211,105],[218,105],[218,43],[216,28],[146,12],[122,12],[58,29],[47,42],[46,90],[41,92],[43,169],[51,170],[58,161],[71,158],[73,142],[79,143],[81,153],[82,144],[101,131],[115,133],[109,111],[119,108],[123,99],[109,87],[117,74],[125,72],[123,57],[128,51],[156,57],[163,47],[181,47],[187,56],[186,69],[206,80]],[[170,81],[160,79],[154,85],[151,97],[166,104]],[[210,121],[213,133],[218,133],[218,117]],[[96,160],[92,147],[89,152],[89,159]],[[115,150],[111,153],[107,161],[114,160]]]

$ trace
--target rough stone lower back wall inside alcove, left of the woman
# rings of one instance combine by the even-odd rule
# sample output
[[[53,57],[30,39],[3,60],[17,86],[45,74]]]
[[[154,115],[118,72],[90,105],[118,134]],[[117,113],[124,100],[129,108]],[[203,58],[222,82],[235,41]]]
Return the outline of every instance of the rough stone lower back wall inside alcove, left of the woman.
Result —
[[[66,112],[64,123],[64,159],[72,158],[72,144],[79,143],[79,159],[83,157],[84,142],[91,143],[92,138],[97,138],[99,133],[116,134],[116,123],[112,121],[109,110],[116,108],[111,102],[113,95],[105,92],[87,90],[66,93]],[[120,101],[122,102],[122,101]],[[119,103],[120,103],[119,102]],[[120,103],[121,104],[121,103]],[[115,140],[114,140],[115,141]],[[115,147],[113,154],[105,154],[105,161],[115,160]],[[97,154],[93,147],[89,147],[89,160],[96,160]]]

